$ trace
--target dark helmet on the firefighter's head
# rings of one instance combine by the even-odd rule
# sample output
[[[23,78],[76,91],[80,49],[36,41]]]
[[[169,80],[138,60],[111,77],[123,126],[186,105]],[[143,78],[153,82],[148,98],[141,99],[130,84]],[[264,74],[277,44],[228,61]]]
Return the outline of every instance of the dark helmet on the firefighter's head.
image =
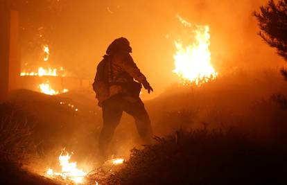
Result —
[[[118,52],[128,52],[132,53],[132,48],[130,47],[130,42],[125,37],[120,37],[115,39],[110,46],[107,47],[107,55]]]

